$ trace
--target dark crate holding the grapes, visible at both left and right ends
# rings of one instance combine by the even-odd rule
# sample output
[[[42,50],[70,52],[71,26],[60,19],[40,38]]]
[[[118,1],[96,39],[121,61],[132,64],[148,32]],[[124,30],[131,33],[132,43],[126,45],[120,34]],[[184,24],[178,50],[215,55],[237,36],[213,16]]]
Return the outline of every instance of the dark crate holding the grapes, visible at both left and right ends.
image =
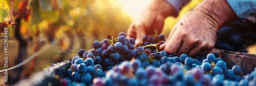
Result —
[[[214,49],[211,52],[219,53],[220,57],[226,61],[227,68],[238,65],[242,68],[244,75],[252,72],[256,67],[256,54],[240,53]],[[67,70],[71,66],[70,60],[65,60],[60,63],[53,64],[53,66],[35,73],[33,76],[20,80],[15,85],[60,85],[59,80],[54,76],[66,77]]]

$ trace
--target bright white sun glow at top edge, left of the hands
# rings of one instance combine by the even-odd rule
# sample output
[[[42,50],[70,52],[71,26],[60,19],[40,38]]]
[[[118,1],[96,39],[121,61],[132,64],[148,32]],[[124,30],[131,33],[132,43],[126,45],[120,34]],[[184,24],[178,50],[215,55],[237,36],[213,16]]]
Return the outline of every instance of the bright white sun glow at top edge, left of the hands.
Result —
[[[123,5],[124,10],[133,17],[138,17],[150,0],[119,0]]]

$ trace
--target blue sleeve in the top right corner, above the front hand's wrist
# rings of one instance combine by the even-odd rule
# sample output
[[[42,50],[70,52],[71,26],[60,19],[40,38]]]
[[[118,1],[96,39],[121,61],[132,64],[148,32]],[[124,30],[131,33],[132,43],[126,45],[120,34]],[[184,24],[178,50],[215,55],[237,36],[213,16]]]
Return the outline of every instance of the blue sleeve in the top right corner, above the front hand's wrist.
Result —
[[[256,14],[256,0],[227,0],[234,13],[240,18],[248,18]]]

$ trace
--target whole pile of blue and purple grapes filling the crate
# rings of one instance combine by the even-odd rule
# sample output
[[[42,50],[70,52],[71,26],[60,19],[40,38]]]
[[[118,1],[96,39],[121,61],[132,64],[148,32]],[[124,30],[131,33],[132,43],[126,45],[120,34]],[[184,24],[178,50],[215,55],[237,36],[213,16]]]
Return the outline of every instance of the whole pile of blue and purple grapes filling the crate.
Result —
[[[94,41],[94,50],[80,49],[72,59],[62,85],[256,85],[256,68],[243,74],[239,66],[227,69],[218,53],[191,58],[176,56],[158,47],[164,36],[134,38],[119,33]]]

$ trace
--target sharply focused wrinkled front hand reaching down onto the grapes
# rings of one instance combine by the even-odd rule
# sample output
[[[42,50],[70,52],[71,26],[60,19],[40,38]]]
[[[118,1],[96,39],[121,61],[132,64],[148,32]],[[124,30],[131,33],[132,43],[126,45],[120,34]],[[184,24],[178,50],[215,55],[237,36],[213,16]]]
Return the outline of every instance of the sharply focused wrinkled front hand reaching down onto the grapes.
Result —
[[[206,55],[215,46],[217,30],[234,18],[236,15],[226,1],[206,0],[183,15],[160,50],[178,56]]]

